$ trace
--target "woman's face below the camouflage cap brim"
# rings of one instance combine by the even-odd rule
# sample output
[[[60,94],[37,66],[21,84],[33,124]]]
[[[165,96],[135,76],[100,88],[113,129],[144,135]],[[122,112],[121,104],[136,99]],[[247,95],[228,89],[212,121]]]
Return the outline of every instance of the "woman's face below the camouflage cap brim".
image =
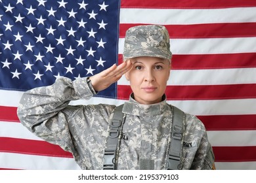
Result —
[[[131,62],[133,67],[125,73],[125,77],[130,81],[135,100],[146,105],[159,103],[170,75],[169,61],[139,57],[131,59]]]

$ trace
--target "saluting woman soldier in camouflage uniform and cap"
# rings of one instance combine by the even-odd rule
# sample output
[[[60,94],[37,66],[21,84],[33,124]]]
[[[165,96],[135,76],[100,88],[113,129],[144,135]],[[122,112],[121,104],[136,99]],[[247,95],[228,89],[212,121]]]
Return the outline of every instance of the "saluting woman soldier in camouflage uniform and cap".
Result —
[[[60,78],[51,86],[25,92],[18,107],[20,122],[41,139],[71,152],[81,169],[214,169],[202,122],[182,112],[183,125],[173,125],[178,114],[165,96],[171,56],[164,26],[131,27],[125,35],[123,63],[91,77]],[[133,93],[121,108],[123,124],[113,144],[109,141],[115,139],[111,119],[116,106],[69,103],[90,99],[122,75]],[[177,156],[170,155],[173,149]]]

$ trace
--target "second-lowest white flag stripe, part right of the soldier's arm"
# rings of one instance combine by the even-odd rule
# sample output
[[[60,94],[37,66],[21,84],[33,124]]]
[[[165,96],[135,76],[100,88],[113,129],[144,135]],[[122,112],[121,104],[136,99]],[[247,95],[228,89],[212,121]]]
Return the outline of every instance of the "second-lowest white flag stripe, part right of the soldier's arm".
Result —
[[[211,146],[256,146],[256,130],[207,131]]]

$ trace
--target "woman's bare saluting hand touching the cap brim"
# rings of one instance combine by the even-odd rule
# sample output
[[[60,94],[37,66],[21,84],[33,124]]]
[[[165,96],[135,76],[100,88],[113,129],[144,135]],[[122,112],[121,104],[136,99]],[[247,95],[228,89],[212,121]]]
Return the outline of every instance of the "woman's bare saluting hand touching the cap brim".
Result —
[[[119,78],[127,71],[131,69],[133,64],[130,60],[124,61],[120,65],[112,65],[112,67],[94,75],[90,76],[91,84],[93,85],[93,88],[95,91],[100,92],[101,90],[104,90],[108,88],[111,84],[114,82],[117,82]]]

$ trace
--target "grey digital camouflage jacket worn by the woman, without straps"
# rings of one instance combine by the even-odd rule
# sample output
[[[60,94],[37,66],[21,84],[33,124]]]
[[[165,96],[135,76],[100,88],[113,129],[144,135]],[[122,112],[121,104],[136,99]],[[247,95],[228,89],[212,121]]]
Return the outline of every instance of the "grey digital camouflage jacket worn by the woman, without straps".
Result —
[[[18,107],[20,122],[41,139],[73,154],[81,169],[102,169],[109,121],[114,105],[70,106],[96,92],[87,78],[60,78],[52,86],[25,92]],[[132,97],[124,103],[117,169],[140,169],[143,161],[166,169],[171,142],[172,112],[165,98],[140,105]],[[214,158],[202,122],[186,114],[181,169],[213,169]]]

